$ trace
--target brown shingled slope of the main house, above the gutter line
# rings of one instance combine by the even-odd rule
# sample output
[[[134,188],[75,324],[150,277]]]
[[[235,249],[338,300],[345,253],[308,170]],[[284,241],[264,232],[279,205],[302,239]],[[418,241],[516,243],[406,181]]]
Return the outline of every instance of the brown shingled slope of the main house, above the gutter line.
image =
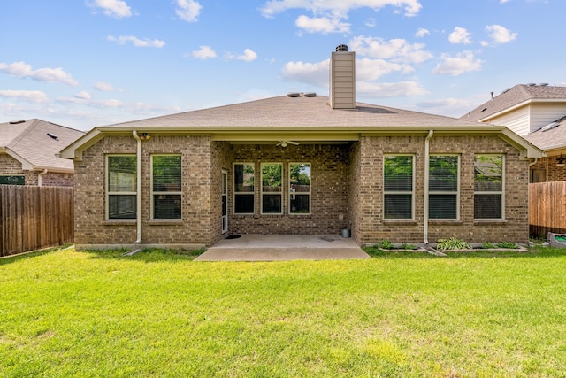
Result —
[[[327,96],[277,96],[147,120],[134,120],[109,127],[479,126],[469,120],[374,104],[356,103],[356,109],[338,110],[332,109],[328,102]]]

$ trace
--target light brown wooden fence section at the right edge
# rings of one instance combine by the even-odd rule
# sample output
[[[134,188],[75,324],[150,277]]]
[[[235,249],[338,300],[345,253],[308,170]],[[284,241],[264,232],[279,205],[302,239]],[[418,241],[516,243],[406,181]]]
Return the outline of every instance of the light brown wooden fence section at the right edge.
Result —
[[[529,225],[534,237],[566,233],[566,181],[529,184]]]

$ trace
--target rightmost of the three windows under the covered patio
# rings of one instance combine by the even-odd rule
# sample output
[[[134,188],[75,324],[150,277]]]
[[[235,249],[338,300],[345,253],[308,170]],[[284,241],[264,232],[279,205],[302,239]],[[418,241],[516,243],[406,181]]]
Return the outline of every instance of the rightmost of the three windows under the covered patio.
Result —
[[[310,163],[289,163],[289,213],[310,214]]]

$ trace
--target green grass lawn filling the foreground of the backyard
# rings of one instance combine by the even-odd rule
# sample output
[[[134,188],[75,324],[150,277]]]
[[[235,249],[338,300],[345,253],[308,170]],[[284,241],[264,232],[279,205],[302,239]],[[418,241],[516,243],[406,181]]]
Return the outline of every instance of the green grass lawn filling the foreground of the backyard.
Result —
[[[0,376],[558,377],[566,251],[0,259]]]

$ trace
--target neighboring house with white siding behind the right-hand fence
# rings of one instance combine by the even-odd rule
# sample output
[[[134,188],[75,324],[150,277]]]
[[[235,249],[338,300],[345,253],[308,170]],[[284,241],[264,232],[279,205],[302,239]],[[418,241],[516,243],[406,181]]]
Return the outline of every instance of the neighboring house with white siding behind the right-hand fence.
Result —
[[[566,87],[521,84],[463,115],[509,127],[546,152],[532,164],[531,182],[566,180]]]

